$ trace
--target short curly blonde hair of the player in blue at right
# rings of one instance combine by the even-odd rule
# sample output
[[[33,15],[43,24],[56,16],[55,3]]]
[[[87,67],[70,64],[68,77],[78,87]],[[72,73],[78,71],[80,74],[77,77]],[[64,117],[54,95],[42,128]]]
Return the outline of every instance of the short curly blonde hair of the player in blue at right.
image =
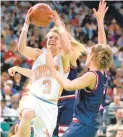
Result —
[[[112,62],[112,50],[107,45],[97,44],[92,47],[92,53],[94,53],[94,60],[98,64],[100,69],[107,69]]]

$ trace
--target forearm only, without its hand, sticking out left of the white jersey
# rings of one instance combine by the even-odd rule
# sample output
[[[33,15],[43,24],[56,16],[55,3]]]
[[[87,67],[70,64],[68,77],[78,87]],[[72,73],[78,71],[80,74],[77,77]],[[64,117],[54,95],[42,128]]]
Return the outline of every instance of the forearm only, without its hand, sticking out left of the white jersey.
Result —
[[[16,71],[18,73],[20,73],[21,75],[23,75],[25,77],[28,77],[28,78],[32,77],[32,70],[26,69],[26,68],[21,68],[21,67],[18,67],[18,66],[15,66],[15,67],[16,67]]]

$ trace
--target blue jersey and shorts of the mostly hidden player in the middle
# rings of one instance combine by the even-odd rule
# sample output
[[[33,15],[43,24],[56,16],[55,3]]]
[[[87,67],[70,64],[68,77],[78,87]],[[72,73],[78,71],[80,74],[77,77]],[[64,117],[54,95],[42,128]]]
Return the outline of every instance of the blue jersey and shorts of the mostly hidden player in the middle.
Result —
[[[77,77],[77,68],[70,69],[70,73],[68,75],[68,79],[73,80]],[[75,91],[66,91],[63,90],[61,97],[58,102],[58,118],[57,118],[57,126],[54,130],[53,135],[58,136],[59,134],[63,134],[64,131],[68,128],[70,123],[72,122],[73,113],[75,106]],[[61,135],[60,135],[61,136]]]

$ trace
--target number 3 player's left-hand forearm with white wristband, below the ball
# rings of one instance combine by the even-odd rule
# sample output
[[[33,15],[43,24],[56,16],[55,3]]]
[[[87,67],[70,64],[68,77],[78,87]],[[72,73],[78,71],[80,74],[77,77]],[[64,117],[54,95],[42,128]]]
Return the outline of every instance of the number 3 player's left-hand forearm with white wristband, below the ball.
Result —
[[[22,54],[26,50],[28,27],[29,27],[28,24],[24,24],[20,38],[19,38],[19,42],[18,42],[18,51]]]

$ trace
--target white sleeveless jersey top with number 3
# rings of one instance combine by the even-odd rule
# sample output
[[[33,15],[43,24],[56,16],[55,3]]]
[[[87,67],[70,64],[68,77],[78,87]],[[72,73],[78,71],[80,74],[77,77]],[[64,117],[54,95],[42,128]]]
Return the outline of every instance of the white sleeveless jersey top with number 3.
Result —
[[[37,58],[32,67],[32,85],[29,88],[30,93],[33,95],[48,99],[58,100],[62,87],[55,78],[50,75],[48,68],[46,67],[46,53],[47,50],[43,49],[43,53]],[[68,75],[64,73],[61,54],[59,53],[54,57],[55,68],[62,75]]]

